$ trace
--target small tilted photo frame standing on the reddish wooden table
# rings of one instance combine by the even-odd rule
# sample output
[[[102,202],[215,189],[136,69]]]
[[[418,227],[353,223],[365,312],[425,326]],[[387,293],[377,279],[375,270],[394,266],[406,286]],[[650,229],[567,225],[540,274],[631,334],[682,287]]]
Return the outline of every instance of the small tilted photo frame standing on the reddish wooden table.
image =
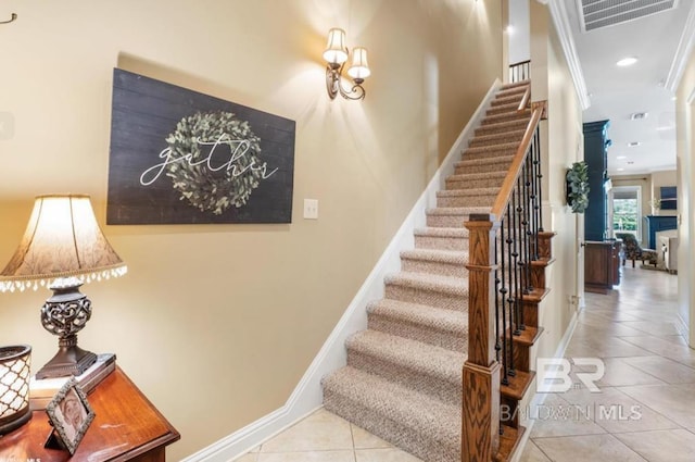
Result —
[[[46,413],[53,427],[46,447],[66,449],[74,454],[94,420],[94,411],[74,377],[55,394]]]

